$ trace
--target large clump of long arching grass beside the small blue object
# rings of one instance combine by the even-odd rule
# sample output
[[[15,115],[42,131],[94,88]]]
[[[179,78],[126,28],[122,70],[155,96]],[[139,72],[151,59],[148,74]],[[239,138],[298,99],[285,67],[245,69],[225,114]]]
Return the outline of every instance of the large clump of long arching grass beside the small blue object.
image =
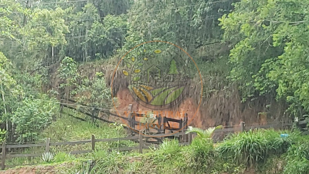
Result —
[[[218,152],[227,161],[251,167],[264,162],[271,154],[284,153],[291,141],[289,137],[281,138],[274,130],[249,130],[232,134],[218,147]]]

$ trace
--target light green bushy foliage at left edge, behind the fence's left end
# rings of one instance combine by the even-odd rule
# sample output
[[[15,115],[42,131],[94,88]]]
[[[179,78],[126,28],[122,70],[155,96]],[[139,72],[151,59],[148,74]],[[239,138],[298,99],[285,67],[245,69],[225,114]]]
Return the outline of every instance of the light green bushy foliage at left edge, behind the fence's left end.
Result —
[[[37,139],[38,133],[50,124],[52,117],[56,115],[57,105],[53,102],[44,102],[49,100],[47,95],[40,95],[35,89],[39,84],[27,85],[26,80],[36,82],[35,78],[21,78],[18,73],[13,73],[14,66],[0,53],[0,89],[1,98],[0,110],[2,117],[0,123],[5,124],[7,131],[7,141],[33,141]],[[3,79],[3,80],[2,80]],[[18,83],[21,81],[21,83]],[[27,92],[27,94],[24,94]],[[33,95],[31,95],[33,94]],[[26,98],[22,96],[26,95]],[[40,98],[39,100],[28,97]]]

